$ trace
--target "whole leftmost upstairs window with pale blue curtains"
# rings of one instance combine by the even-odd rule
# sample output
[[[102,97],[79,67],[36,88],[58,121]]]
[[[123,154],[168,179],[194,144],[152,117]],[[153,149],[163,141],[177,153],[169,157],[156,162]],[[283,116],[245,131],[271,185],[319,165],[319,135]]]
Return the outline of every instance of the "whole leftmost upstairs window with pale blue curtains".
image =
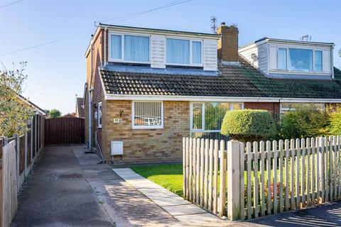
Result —
[[[149,62],[149,37],[110,34],[110,60],[119,62]]]

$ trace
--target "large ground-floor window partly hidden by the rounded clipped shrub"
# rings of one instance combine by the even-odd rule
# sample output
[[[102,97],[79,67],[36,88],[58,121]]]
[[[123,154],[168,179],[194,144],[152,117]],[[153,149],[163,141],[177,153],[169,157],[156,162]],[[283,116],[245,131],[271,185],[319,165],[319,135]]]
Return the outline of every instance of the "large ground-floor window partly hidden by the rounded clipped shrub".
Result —
[[[226,111],[244,109],[242,103],[230,102],[192,102],[190,104],[190,136],[222,140],[220,134],[222,120]]]

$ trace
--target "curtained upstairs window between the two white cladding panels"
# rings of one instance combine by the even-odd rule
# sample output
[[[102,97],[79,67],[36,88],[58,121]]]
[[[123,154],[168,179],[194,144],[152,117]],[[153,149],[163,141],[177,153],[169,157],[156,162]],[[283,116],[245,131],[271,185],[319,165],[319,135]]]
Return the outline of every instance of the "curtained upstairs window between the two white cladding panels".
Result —
[[[166,62],[168,65],[202,65],[202,42],[167,38]]]

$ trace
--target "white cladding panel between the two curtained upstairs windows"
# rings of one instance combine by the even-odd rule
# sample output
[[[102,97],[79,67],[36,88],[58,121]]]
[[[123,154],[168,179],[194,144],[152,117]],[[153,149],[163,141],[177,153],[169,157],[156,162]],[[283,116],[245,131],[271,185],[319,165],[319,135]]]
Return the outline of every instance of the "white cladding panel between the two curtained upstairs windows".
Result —
[[[151,67],[166,68],[166,37],[151,35]]]

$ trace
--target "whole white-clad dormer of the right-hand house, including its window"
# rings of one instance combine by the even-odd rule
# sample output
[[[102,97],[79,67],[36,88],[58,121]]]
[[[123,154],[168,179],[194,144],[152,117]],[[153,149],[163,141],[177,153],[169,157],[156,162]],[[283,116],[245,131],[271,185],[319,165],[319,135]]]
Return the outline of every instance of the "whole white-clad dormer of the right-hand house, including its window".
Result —
[[[239,48],[239,54],[269,77],[331,79],[333,46],[332,43],[264,38]]]

